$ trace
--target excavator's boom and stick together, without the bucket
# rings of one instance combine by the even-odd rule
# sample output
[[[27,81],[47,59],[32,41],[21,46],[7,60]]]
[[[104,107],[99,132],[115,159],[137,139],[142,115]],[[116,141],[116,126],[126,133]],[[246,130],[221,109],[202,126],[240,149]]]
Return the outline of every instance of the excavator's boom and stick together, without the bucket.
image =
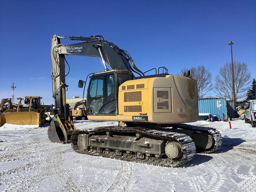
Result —
[[[70,45],[63,45],[60,42],[61,38],[83,41]],[[119,49],[114,43],[109,43],[102,36],[91,37],[60,37],[54,35],[51,45],[51,61],[52,61],[52,84],[53,98],[55,99],[55,107],[58,108],[58,114],[61,117],[67,116],[65,113],[66,99],[65,89],[65,54],[80,55],[87,57],[98,57],[102,59],[105,71],[107,66],[112,69],[133,71],[140,76],[144,76],[135,65],[130,54],[122,49]],[[107,65],[106,65],[107,64]],[[65,115],[66,114],[66,115]]]

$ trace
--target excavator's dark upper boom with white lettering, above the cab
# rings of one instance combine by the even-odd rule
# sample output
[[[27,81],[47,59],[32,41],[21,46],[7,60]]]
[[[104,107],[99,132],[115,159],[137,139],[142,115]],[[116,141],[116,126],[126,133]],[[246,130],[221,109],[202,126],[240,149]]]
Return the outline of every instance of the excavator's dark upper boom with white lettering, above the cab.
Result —
[[[83,41],[81,43],[62,45],[60,38]],[[143,75],[135,65],[127,51],[119,49],[114,43],[106,41],[102,36],[91,37],[61,37],[54,35],[52,38],[52,54],[79,55],[98,57],[106,62],[111,70],[132,70],[140,76]],[[55,60],[55,59],[54,59]],[[52,61],[54,61],[52,60]]]

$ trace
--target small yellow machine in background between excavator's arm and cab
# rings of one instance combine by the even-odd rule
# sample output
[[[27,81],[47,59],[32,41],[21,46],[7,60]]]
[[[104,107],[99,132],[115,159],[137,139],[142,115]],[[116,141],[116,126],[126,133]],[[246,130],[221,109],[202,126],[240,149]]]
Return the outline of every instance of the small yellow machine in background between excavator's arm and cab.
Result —
[[[79,107],[83,105],[83,107]],[[87,113],[86,113],[86,100],[77,101],[71,109],[71,116],[73,121],[75,120],[87,120]]]

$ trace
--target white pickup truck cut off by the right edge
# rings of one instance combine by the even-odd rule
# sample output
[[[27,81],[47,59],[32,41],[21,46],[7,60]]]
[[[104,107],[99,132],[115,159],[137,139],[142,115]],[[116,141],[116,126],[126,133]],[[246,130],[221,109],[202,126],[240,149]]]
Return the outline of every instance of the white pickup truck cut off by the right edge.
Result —
[[[246,110],[244,111],[244,122],[251,122],[252,126],[256,126],[256,100],[250,100]]]

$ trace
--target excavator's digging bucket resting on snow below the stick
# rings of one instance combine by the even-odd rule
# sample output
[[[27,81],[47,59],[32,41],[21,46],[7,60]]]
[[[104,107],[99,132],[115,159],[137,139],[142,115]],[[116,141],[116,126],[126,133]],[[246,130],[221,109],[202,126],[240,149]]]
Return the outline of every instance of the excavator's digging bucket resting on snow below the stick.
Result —
[[[74,130],[76,130],[76,127],[70,117],[68,121],[62,122],[59,116],[56,115],[48,129],[48,138],[51,142],[69,143]]]

